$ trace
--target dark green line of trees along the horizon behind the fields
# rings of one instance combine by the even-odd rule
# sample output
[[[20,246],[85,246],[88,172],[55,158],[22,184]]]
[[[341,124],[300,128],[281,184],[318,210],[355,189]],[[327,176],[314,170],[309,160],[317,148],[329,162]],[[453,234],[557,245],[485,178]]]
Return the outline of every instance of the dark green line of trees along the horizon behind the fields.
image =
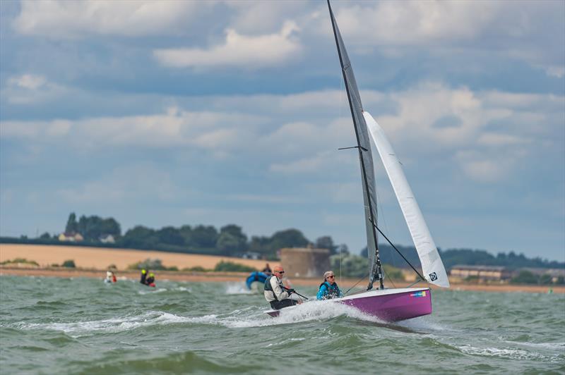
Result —
[[[241,256],[246,252],[254,252],[265,259],[276,259],[276,252],[283,247],[304,247],[312,245],[317,248],[328,249],[331,254],[348,255],[347,245],[336,245],[330,235],[324,235],[312,242],[302,231],[289,228],[279,230],[270,236],[251,236],[249,238],[242,227],[235,224],[222,226],[219,230],[214,226],[184,225],[179,228],[165,226],[160,229],[148,228],[146,226],[135,226],[126,233],[121,234],[120,224],[113,218],[103,219],[100,216],[81,216],[78,220],[76,214],[71,213],[65,226],[66,233],[81,233],[84,240],[76,242],[59,242],[57,235],[44,233],[37,239],[28,239],[22,236],[20,239],[0,238],[0,242],[22,242],[22,243],[60,243],[65,245],[83,246],[106,246],[125,247],[141,250],[162,250],[170,252],[187,252],[196,254],[217,254],[227,256]],[[112,235],[114,244],[102,244],[102,236]],[[408,262],[416,268],[420,268],[420,260],[413,246],[396,245]],[[379,244],[381,262],[391,264],[395,267],[410,268],[396,250],[388,244]],[[505,266],[509,269],[531,268],[565,268],[565,262],[549,261],[540,257],[528,258],[524,254],[516,252],[499,252],[494,255],[486,250],[473,249],[439,249],[441,259],[446,269],[457,264]],[[367,247],[361,251],[361,257],[367,258]],[[354,259],[354,258],[352,258]],[[355,262],[355,264],[361,262]],[[353,267],[357,273],[357,265]],[[359,271],[361,272],[361,271]]]

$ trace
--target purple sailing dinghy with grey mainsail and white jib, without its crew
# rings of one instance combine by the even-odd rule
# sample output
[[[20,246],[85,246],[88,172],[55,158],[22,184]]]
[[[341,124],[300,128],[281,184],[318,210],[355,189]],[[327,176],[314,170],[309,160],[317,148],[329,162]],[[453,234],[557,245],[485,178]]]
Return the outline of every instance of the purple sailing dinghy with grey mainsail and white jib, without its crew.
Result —
[[[376,186],[369,134],[379,152],[388,179],[391,181],[396,198],[400,204],[400,209],[408,225],[408,230],[410,231],[412,241],[414,242],[420,263],[422,264],[423,276],[411,264],[410,266],[412,266],[412,269],[420,276],[422,281],[427,281],[430,284],[444,288],[449,288],[449,281],[444,264],[441,262],[439,252],[432,239],[432,235],[429,233],[422,212],[404,176],[402,164],[400,164],[382,128],[376,123],[369,112],[363,109],[361,97],[357,90],[355,75],[353,75],[351,63],[347,56],[347,51],[345,51],[345,44],[341,38],[338,25],[335,23],[329,0],[328,9],[330,11],[333,35],[335,37],[335,44],[338,47],[343,80],[345,81],[345,90],[347,91],[347,99],[349,100],[355,136],[357,138],[357,146],[352,148],[357,148],[357,152],[359,152],[365,207],[365,227],[367,230],[367,254],[369,254],[370,269],[369,285],[366,291],[346,297],[335,298],[330,301],[355,307],[366,314],[377,316],[379,319],[385,321],[400,321],[432,314],[432,295],[429,288],[388,289],[383,285],[383,271],[379,258],[377,232],[383,233],[379,229],[376,220]],[[383,238],[386,238],[386,236],[383,235]],[[388,238],[386,238],[386,240],[388,240]],[[396,247],[394,248],[396,249]],[[400,255],[402,256],[402,254]],[[373,289],[375,281],[378,281],[379,286]],[[287,307],[285,310],[295,308],[297,308],[297,306]],[[278,316],[280,310],[269,310],[266,313],[270,316]]]

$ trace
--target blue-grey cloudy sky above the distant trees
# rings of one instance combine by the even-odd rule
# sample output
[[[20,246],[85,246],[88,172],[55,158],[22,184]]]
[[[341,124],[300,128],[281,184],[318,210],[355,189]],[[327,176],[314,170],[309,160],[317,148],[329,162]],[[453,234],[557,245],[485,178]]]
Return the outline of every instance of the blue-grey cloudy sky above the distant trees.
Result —
[[[436,244],[565,261],[564,1],[333,8]],[[1,235],[74,211],[365,245],[324,1],[1,1],[0,52]]]

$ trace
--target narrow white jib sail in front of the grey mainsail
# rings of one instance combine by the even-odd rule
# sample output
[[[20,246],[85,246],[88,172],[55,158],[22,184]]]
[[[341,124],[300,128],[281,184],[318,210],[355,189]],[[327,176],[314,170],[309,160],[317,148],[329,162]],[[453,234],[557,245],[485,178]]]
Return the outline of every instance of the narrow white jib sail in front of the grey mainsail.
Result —
[[[429,233],[422,211],[418,207],[418,203],[412,193],[412,189],[410,189],[410,185],[408,185],[400,161],[394,153],[391,143],[388,142],[383,129],[376,123],[369,112],[364,111],[363,117],[365,118],[365,123],[367,123],[367,128],[369,128],[369,133],[373,137],[376,149],[379,151],[388,179],[391,180],[393,185],[396,199],[398,199],[418,257],[420,257],[424,277],[429,283],[449,288],[446,269],[441,262],[436,244]]]

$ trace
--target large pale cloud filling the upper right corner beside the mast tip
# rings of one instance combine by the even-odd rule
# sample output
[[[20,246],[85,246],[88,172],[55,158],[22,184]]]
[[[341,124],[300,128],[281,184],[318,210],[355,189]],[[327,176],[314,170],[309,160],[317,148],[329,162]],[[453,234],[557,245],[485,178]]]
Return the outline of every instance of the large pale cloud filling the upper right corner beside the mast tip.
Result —
[[[565,74],[563,1],[365,1],[333,8],[345,42],[357,52],[486,52],[525,61],[551,77]],[[316,32],[326,35],[326,15],[317,21]]]

